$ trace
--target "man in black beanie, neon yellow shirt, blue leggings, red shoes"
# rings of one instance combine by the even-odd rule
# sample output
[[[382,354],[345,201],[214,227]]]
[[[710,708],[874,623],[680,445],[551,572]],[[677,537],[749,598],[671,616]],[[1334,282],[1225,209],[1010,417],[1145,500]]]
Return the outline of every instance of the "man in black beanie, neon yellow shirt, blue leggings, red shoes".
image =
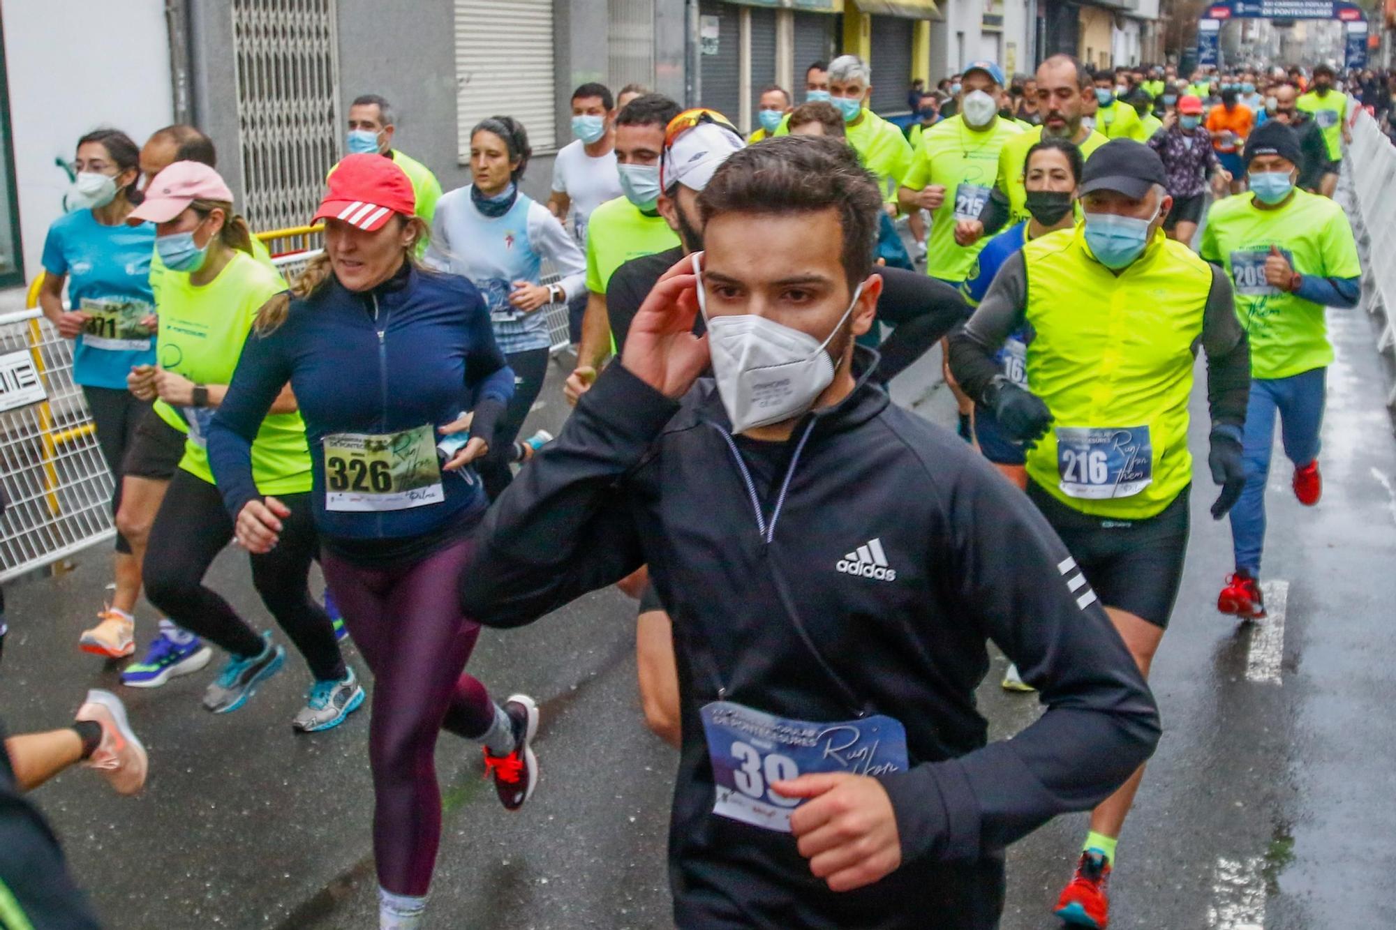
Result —
[[[1245,159],[1251,190],[1212,205],[1199,251],[1231,275],[1235,311],[1251,337],[1245,490],[1231,511],[1235,574],[1217,610],[1256,619],[1265,616],[1259,575],[1275,416],[1294,462],[1294,496],[1312,507],[1323,490],[1319,427],[1333,362],[1323,311],[1357,306],[1362,270],[1343,208],[1295,186],[1304,156],[1291,127],[1263,123],[1251,133]]]

